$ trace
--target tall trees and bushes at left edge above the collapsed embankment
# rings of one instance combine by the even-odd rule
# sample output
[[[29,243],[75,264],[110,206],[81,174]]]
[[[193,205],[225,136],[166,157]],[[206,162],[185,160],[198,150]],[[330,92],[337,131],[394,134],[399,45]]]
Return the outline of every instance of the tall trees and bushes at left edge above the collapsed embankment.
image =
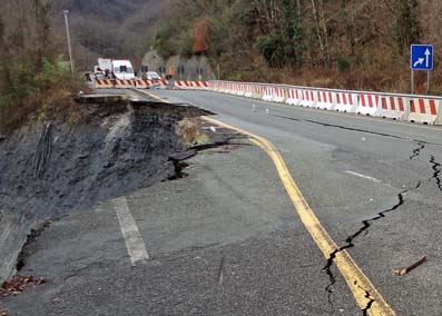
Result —
[[[62,66],[62,48],[50,27],[53,1],[6,6],[17,14],[0,16],[0,129],[7,131],[30,117],[75,120],[72,93],[84,83]]]

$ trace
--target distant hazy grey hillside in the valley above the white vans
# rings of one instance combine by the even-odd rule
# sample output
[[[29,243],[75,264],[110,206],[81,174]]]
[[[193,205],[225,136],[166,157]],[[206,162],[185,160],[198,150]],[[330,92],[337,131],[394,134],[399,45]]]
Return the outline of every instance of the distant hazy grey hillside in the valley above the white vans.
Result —
[[[57,11],[70,11],[70,28],[77,59],[82,67],[98,56],[129,58],[140,62],[160,20],[160,0],[62,0]],[[63,28],[62,13],[55,14]]]

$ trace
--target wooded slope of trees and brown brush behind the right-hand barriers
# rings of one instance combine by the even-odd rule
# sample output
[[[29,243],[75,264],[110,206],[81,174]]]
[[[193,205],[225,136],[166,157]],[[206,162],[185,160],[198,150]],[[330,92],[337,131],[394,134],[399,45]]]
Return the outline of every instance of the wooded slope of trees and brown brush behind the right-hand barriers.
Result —
[[[220,65],[222,79],[406,92],[409,46],[442,46],[436,0],[166,3],[155,41],[159,53],[188,56],[194,47],[214,68]],[[424,76],[418,73],[416,82],[424,91]]]

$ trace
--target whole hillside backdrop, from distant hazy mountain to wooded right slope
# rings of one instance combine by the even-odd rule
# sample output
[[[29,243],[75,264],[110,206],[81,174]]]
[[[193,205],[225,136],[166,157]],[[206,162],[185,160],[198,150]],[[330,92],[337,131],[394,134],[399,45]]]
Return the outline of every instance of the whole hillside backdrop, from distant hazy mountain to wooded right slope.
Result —
[[[90,69],[100,56],[128,58],[137,68],[155,47],[165,60],[204,55],[212,69],[219,65],[223,79],[407,92],[409,46],[421,42],[434,45],[432,77],[442,76],[438,0],[49,2],[49,53],[67,53],[62,9],[68,9],[80,70]],[[8,33],[20,26],[20,8],[32,1],[7,3],[0,12],[7,22],[4,38],[17,40]],[[415,80],[416,91],[424,92],[425,73],[416,73]],[[432,92],[442,89],[434,85]]]

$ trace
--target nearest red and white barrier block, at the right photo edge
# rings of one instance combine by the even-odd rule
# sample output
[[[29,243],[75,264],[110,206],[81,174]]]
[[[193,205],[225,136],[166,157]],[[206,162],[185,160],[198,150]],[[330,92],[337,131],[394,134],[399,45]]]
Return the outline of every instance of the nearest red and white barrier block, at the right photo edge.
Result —
[[[441,101],[436,99],[411,99],[407,120],[411,122],[440,125],[442,124],[440,106]]]

